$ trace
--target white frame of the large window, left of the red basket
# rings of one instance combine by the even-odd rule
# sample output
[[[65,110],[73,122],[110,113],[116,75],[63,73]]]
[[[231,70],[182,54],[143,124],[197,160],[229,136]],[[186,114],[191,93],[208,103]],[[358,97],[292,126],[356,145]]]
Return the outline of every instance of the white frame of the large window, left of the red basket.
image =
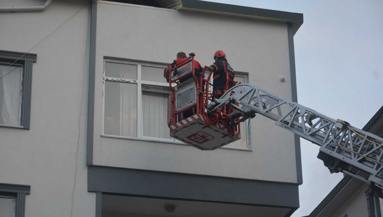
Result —
[[[112,62],[112,63],[122,63],[122,64],[132,64],[137,65],[137,79],[123,79],[123,78],[113,78],[113,77],[106,77],[105,76],[105,63],[106,62]],[[158,67],[165,69],[168,65],[165,64],[155,64],[155,63],[149,63],[149,62],[140,62],[140,61],[132,61],[132,60],[118,60],[118,59],[110,59],[110,58],[104,58],[103,63],[103,93],[105,93],[105,82],[107,80],[114,79],[115,81],[119,82],[129,82],[134,83],[137,85],[137,137],[128,137],[128,136],[119,136],[119,135],[108,135],[104,132],[104,121],[105,121],[105,94],[103,94],[103,106],[102,106],[102,136],[104,137],[118,137],[118,138],[124,138],[124,139],[141,139],[141,140],[150,140],[150,141],[157,141],[157,142],[176,142],[178,144],[184,144],[183,142],[180,142],[174,138],[171,139],[164,139],[164,138],[157,138],[157,137],[149,137],[144,136],[144,124],[143,124],[143,115],[142,115],[142,85],[156,85],[156,86],[166,86],[169,87],[169,83],[165,82],[151,82],[151,81],[144,81],[141,80],[141,66],[149,66],[149,67]],[[165,80],[165,78],[164,78]],[[148,90],[145,90],[148,91]],[[149,90],[149,92],[155,92],[155,93],[171,93],[171,91],[164,91],[164,90]]]

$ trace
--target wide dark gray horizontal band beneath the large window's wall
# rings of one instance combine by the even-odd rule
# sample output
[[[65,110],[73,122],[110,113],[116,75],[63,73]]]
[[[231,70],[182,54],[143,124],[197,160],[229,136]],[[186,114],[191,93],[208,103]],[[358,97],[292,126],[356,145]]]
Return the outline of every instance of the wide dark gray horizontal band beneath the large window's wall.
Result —
[[[298,184],[88,166],[88,191],[136,197],[299,207]]]

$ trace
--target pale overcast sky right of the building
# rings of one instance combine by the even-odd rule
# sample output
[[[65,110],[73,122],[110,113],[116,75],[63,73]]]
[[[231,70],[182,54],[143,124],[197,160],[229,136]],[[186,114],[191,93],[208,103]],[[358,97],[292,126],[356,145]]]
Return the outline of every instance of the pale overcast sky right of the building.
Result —
[[[382,0],[209,0],[303,13],[294,36],[298,103],[362,129],[383,105]],[[257,85],[257,84],[253,84]],[[343,178],[316,158],[319,147],[301,139],[300,208],[310,214]]]

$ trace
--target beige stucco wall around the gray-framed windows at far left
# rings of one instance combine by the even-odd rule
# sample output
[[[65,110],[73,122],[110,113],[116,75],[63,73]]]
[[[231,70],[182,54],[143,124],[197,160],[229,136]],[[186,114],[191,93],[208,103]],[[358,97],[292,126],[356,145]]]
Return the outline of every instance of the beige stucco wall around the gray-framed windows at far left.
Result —
[[[45,2],[2,0],[0,7]],[[85,165],[89,6],[54,0],[40,12],[0,13],[0,49],[26,52],[82,8],[29,51],[37,54],[30,129],[0,127],[0,183],[31,186],[26,217],[70,216],[73,192],[73,216],[95,216]]]

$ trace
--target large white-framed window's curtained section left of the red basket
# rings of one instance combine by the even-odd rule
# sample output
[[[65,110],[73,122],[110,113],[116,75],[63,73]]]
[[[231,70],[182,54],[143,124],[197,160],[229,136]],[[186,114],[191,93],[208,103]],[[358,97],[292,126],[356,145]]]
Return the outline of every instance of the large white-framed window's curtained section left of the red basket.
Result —
[[[167,126],[166,65],[105,59],[103,134],[174,141]]]

